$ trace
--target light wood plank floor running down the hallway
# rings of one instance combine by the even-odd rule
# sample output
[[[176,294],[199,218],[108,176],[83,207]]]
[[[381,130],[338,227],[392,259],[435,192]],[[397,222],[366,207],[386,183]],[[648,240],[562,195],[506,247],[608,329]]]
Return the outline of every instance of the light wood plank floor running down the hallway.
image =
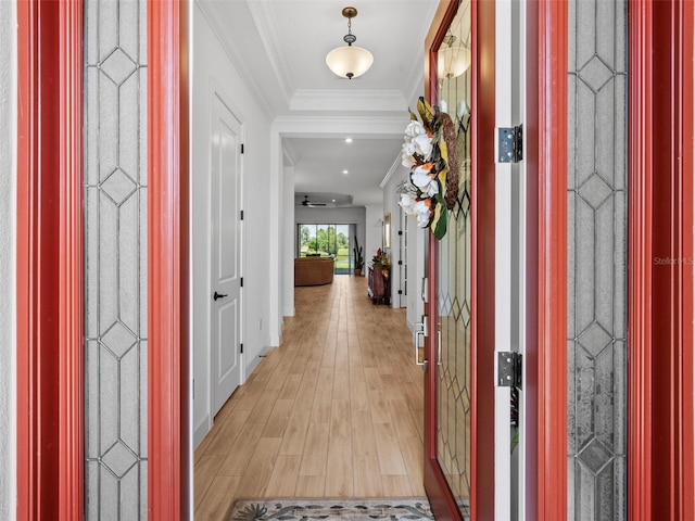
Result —
[[[365,278],[295,289],[295,316],[195,450],[195,520],[235,498],[410,497],[422,488],[422,371],[404,309]]]

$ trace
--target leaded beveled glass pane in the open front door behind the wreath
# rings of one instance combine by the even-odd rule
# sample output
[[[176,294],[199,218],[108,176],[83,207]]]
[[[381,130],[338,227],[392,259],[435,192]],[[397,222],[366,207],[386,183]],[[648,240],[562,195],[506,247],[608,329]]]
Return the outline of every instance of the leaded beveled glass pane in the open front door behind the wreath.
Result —
[[[464,50],[465,49],[465,50]],[[470,504],[470,4],[463,2],[439,53],[439,106],[456,129],[458,181],[439,247],[438,461],[465,518]],[[460,63],[454,63],[453,60]],[[451,63],[450,63],[451,62]],[[447,143],[448,144],[448,143]],[[451,152],[451,150],[450,150]],[[451,164],[451,162],[450,162]],[[448,188],[451,189],[451,187]]]

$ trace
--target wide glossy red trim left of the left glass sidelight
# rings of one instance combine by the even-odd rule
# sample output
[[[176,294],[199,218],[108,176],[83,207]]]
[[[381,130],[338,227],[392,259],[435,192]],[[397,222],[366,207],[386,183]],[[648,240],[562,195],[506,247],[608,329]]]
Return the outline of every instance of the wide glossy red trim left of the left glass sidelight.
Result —
[[[17,519],[79,520],[81,2],[18,2],[17,22]]]

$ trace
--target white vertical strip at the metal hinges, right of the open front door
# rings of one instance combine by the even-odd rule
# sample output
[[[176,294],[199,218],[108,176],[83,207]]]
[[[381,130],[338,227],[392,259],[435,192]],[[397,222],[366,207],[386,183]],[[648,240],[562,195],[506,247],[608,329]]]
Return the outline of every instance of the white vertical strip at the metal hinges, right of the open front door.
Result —
[[[495,10],[495,351],[518,353],[526,339],[526,164],[508,156],[500,130],[519,135],[525,122],[523,2],[497,1]],[[502,132],[503,135],[506,132]],[[514,155],[514,154],[513,154]],[[510,160],[503,161],[503,156]],[[507,358],[506,356],[504,358]],[[500,382],[500,374],[495,376]],[[521,379],[523,380],[523,379]],[[513,412],[513,405],[515,404]],[[523,519],[523,385],[495,390],[495,519]]]

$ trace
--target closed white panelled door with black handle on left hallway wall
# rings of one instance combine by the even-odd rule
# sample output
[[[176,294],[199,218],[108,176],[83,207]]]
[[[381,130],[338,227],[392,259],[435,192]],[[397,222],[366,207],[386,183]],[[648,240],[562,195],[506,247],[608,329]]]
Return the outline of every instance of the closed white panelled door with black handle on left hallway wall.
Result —
[[[212,415],[241,380],[241,124],[215,97],[212,115]]]

